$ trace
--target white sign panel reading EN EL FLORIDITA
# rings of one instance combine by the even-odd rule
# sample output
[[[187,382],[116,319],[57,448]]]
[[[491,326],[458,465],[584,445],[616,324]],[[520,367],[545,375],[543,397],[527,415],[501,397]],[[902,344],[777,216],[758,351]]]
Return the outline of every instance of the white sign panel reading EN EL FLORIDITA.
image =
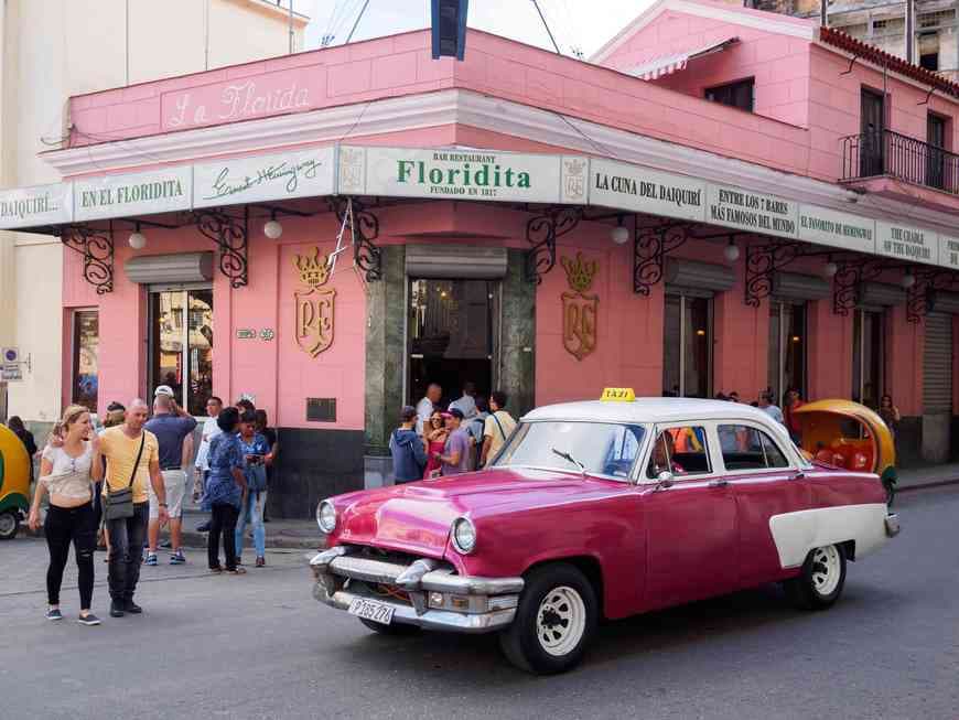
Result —
[[[77,180],[74,184],[74,217],[154,215],[190,209],[193,168],[170,168],[133,175],[107,175]]]

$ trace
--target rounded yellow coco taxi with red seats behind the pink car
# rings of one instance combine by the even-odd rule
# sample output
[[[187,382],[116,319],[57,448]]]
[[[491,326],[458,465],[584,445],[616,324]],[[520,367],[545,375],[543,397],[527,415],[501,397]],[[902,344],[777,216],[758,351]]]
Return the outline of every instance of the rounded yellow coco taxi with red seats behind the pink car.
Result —
[[[896,448],[883,419],[859,402],[842,399],[808,402],[795,411],[802,450],[819,462],[875,473],[887,504],[896,493]]]

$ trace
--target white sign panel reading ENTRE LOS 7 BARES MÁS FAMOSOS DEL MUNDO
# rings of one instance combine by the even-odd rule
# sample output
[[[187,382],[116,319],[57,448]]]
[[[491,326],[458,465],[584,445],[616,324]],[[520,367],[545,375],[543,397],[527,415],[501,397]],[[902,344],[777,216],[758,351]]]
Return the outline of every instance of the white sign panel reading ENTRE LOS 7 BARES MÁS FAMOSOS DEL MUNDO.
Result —
[[[785,197],[729,185],[709,185],[705,222],[743,230],[796,237],[796,203]]]

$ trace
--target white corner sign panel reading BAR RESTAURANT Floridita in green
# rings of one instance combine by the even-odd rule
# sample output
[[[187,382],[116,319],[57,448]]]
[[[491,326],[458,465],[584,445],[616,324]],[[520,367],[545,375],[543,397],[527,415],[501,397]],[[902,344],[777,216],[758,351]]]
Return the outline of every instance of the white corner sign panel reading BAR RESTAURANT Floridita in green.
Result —
[[[343,147],[340,192],[391,197],[585,203],[586,158],[488,150]]]

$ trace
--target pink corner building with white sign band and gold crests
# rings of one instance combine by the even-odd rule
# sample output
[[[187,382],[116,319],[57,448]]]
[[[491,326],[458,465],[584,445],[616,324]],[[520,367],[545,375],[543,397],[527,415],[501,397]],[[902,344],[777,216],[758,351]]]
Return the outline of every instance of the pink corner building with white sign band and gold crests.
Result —
[[[389,482],[429,382],[514,415],[606,386],[888,394],[903,463],[952,456],[959,87],[705,0],[592,63],[429,43],[71,98],[64,181],[0,195],[64,240],[64,404],[251,397],[288,516]]]

